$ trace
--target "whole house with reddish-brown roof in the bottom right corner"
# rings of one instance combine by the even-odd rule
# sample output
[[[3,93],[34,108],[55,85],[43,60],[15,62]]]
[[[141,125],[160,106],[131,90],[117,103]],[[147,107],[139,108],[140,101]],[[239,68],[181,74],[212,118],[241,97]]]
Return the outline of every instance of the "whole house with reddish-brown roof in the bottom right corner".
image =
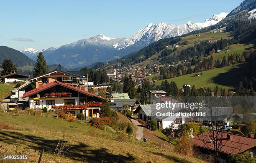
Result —
[[[217,135],[217,131],[213,131]],[[194,147],[197,148],[201,157],[209,158],[214,152],[214,141],[212,140],[212,132],[205,132],[192,138]],[[230,134],[222,132],[215,136],[215,142],[222,147],[219,151],[218,162],[226,163],[227,156],[231,154],[243,153],[244,156],[256,157],[256,138],[246,137],[243,135]],[[221,135],[221,137],[220,137]],[[216,144],[216,143],[215,143]]]

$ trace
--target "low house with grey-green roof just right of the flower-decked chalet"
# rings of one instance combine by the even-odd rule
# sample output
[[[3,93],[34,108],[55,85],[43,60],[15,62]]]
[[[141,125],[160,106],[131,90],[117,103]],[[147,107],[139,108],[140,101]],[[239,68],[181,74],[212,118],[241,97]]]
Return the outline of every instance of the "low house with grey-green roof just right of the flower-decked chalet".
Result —
[[[139,104],[141,104],[138,100],[136,99],[116,99],[111,101],[110,107],[118,112],[122,112],[125,109],[126,103],[128,104],[129,110],[135,110]]]

